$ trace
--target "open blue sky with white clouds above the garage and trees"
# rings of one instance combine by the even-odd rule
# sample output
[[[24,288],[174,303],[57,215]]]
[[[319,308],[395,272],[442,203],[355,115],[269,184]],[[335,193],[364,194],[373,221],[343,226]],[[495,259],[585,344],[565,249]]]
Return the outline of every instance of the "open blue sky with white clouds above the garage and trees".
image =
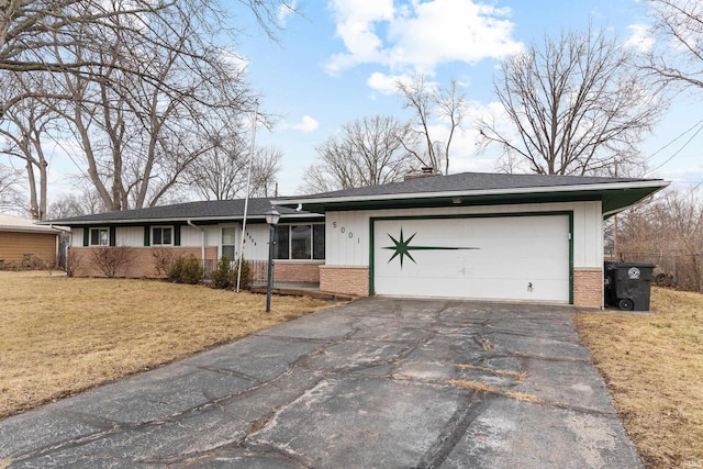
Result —
[[[237,0],[226,0],[234,14]],[[492,83],[501,58],[545,34],[604,27],[633,47],[646,47],[646,5],[639,0],[298,0],[298,14],[283,14],[279,42],[255,24],[239,37],[237,53],[261,94],[261,109],[280,115],[271,131],[259,129],[257,144],[282,150],[279,193],[295,194],[315,147],[345,123],[375,114],[409,118],[392,93],[397,78],[423,72],[438,86],[454,78],[475,112],[495,105]],[[683,94],[641,146],[656,153],[648,176],[678,182],[703,180],[703,132],[680,149],[703,116],[703,93]],[[440,123],[434,129],[442,139]],[[491,171],[495,156],[477,155],[470,123],[455,142],[453,172]],[[676,139],[676,141],[674,141]],[[660,148],[673,142],[665,149]],[[659,152],[658,152],[659,150]],[[658,152],[658,153],[657,153]],[[671,158],[669,161],[667,161]]]

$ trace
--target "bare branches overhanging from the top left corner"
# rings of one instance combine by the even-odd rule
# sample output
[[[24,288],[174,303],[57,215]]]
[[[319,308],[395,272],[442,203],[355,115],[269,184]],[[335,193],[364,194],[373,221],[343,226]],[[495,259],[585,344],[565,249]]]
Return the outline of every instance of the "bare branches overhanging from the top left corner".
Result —
[[[255,14],[271,37],[279,8],[294,11],[294,2],[287,0],[239,0],[238,3]],[[198,37],[198,29],[191,29],[181,44],[169,43],[157,33],[188,20],[193,25],[210,25],[211,32],[221,34],[232,32],[225,25],[230,19],[216,0],[0,0],[0,70],[68,72],[94,82],[107,82],[119,71],[138,77],[163,93],[179,96],[181,90],[171,82],[163,82],[158,70],[135,68],[137,62],[104,63],[100,57],[114,53],[111,51],[114,37],[121,37],[132,52],[140,47],[187,48],[187,43]],[[74,56],[71,52],[76,47],[87,53]],[[70,98],[64,90],[55,91],[52,94],[55,98]],[[32,97],[46,98],[46,94],[22,90],[1,104],[0,116],[10,107]]]

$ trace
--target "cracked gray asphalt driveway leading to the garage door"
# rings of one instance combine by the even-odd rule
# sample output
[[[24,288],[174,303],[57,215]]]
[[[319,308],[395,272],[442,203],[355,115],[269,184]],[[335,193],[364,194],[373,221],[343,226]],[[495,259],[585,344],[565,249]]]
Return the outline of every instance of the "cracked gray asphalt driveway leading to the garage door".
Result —
[[[0,467],[641,468],[574,314],[358,300],[0,421]]]

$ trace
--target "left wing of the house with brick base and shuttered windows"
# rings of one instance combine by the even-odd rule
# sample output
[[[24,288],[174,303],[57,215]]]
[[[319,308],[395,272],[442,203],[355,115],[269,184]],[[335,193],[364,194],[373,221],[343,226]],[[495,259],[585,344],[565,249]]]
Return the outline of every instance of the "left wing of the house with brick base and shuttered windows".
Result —
[[[248,201],[244,258],[257,270],[265,269],[268,259],[269,226],[264,214],[270,208],[267,199]],[[223,255],[237,259],[244,209],[244,200],[190,202],[74,216],[51,223],[70,227],[69,263],[74,260],[75,276],[103,276],[91,261],[94,249],[125,246],[129,263],[119,276],[156,278],[160,276],[156,261],[164,255],[193,255],[203,263],[205,271],[212,270]],[[317,282],[319,266],[324,264],[325,254],[324,216],[293,209],[279,211],[275,279]]]

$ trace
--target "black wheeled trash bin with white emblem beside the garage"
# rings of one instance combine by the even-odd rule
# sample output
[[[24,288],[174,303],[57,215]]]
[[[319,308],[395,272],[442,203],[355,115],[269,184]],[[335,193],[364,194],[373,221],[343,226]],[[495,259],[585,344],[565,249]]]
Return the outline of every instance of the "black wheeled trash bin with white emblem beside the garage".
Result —
[[[621,310],[649,311],[654,268],[649,263],[606,263],[606,303]]]

